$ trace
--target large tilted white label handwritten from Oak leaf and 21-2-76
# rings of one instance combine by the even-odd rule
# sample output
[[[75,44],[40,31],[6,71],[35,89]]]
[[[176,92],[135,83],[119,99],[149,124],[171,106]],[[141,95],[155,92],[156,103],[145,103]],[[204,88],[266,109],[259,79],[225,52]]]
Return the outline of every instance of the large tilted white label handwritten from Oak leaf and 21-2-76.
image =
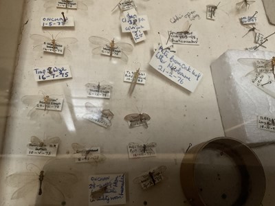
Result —
[[[168,49],[159,47],[149,63],[155,70],[179,86],[194,92],[203,73],[186,64]]]

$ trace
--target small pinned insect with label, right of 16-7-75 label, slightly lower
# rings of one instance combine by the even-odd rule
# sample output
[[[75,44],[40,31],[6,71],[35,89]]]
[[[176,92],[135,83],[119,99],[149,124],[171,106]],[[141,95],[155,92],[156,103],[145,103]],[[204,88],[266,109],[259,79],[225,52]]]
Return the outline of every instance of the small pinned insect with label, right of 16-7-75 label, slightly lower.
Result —
[[[93,84],[93,83],[87,83],[85,84],[86,90],[87,90],[87,96],[92,98],[107,98],[109,99],[111,97],[111,90],[113,87],[109,84]]]

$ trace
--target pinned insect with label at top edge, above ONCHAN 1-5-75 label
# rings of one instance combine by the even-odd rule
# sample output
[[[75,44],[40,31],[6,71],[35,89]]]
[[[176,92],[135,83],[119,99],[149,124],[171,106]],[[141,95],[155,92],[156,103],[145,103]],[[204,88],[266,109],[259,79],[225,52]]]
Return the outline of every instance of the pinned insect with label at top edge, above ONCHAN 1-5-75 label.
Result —
[[[44,3],[44,8],[47,12],[54,10],[54,8],[65,8],[72,10],[88,10],[88,5],[90,5],[92,0],[47,0]]]

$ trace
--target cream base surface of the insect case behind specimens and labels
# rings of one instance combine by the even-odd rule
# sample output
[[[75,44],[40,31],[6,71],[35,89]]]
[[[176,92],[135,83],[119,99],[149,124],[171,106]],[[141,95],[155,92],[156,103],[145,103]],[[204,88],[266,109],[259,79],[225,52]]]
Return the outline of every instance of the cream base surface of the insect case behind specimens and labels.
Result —
[[[3,1],[3,0],[2,0]],[[35,198],[36,190],[25,198],[10,200],[15,188],[5,184],[5,176],[14,172],[25,172],[26,164],[35,163],[43,168],[47,159],[28,157],[25,155],[26,144],[32,135],[43,139],[58,136],[61,145],[58,149],[58,158],[62,163],[56,170],[69,170],[78,175],[79,181],[70,188],[74,198],[67,199],[67,205],[88,205],[87,178],[91,174],[111,174],[126,172],[126,205],[184,205],[186,198],[179,183],[179,168],[184,151],[188,144],[193,145],[207,141],[214,137],[223,136],[223,127],[217,106],[216,95],[212,83],[210,64],[228,49],[245,49],[253,45],[252,33],[244,38],[243,34],[248,28],[239,23],[243,15],[252,15],[257,10],[259,23],[256,27],[265,35],[274,32],[274,27],[269,25],[265,16],[263,3],[256,1],[247,11],[238,12],[235,3],[222,1],[217,10],[215,21],[206,20],[206,5],[217,4],[216,1],[137,1],[138,14],[147,14],[151,30],[146,32],[146,41],[135,44],[131,34],[122,33],[120,27],[120,11],[111,10],[116,1],[88,1],[81,2],[88,5],[88,10],[67,10],[65,15],[74,16],[74,29],[65,29],[59,37],[74,37],[78,43],[69,45],[71,52],[65,56],[43,54],[32,49],[34,41],[31,34],[42,34],[48,31],[57,34],[60,29],[44,30],[40,25],[41,16],[58,16],[61,11],[55,8],[46,10],[43,4],[46,1],[26,1],[25,14],[22,22],[28,20],[24,26],[21,45],[19,47],[19,62],[14,76],[12,90],[12,108],[8,119],[5,134],[5,146],[1,161],[1,205],[34,205],[35,202],[50,201]],[[89,3],[90,2],[90,3]],[[1,3],[1,1],[0,1]],[[194,93],[177,86],[164,78],[148,65],[153,55],[153,43],[159,41],[160,32],[167,37],[167,30],[180,31],[188,20],[184,17],[188,12],[195,11],[199,14],[192,23],[191,30],[199,35],[200,45],[176,45],[177,56],[189,65],[203,73],[203,80]],[[176,23],[171,23],[173,17],[181,18]],[[89,36],[102,36],[115,38],[134,45],[134,50],[129,54],[129,61],[124,64],[118,58],[95,56],[91,54],[92,48],[88,41]],[[265,45],[267,50],[273,50],[274,44],[271,37]],[[136,85],[131,98],[127,95],[129,83],[123,82],[126,69],[131,69],[132,62],[139,61],[141,70],[146,71],[145,85]],[[52,82],[35,82],[32,69],[36,66],[69,64],[73,78],[69,80],[56,80]],[[87,82],[104,81],[113,86],[110,100],[87,98],[85,84]],[[63,121],[56,123],[49,115],[37,119],[29,119],[28,112],[32,106],[21,102],[24,95],[35,95],[43,90],[49,94],[63,95],[65,104],[61,116]],[[102,108],[110,108],[114,113],[112,126],[102,128],[83,119],[87,113],[85,102],[91,102]],[[124,116],[137,113],[137,108],[142,108],[143,113],[151,116],[151,124],[143,127],[129,129],[124,121]],[[129,159],[126,146],[129,142],[155,141],[157,143],[157,157],[148,159]],[[76,164],[72,160],[71,144],[87,144],[100,146],[102,153],[107,157],[104,163],[98,165]],[[272,205],[274,191],[272,174],[274,165],[267,157],[272,154],[272,146],[266,149],[257,149],[259,158],[263,161],[267,171],[267,192],[263,205]],[[69,154],[67,154],[69,151]],[[143,191],[140,185],[133,183],[135,176],[154,168],[166,165],[165,179],[156,187]],[[188,205],[188,203],[185,203]]]

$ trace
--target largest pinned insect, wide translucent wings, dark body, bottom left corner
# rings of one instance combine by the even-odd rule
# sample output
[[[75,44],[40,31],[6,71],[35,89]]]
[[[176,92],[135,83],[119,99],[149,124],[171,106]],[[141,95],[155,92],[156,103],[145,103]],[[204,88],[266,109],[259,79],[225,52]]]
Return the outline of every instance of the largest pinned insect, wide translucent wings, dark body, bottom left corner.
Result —
[[[38,194],[47,196],[50,201],[62,203],[66,197],[72,196],[68,189],[77,181],[75,174],[55,171],[51,169],[50,163],[45,164],[42,170],[30,163],[27,170],[29,172],[16,172],[6,177],[5,182],[10,187],[19,187],[13,192],[12,199]]]

